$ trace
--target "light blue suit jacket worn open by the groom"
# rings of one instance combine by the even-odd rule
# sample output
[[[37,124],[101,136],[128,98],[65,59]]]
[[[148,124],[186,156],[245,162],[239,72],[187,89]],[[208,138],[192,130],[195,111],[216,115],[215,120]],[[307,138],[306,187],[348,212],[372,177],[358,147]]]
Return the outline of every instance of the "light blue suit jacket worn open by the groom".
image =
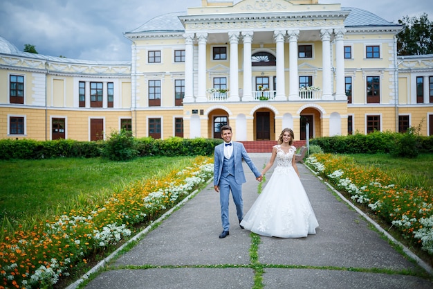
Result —
[[[245,174],[243,173],[242,159],[248,164],[250,170],[256,177],[261,174],[255,164],[252,162],[248,156],[243,143],[237,143],[232,141],[233,145],[233,157],[234,157],[234,179],[238,184],[243,184],[246,182]],[[224,161],[224,143],[219,144],[215,147],[214,151],[214,186],[219,184],[219,179],[221,178],[221,172],[223,170]]]

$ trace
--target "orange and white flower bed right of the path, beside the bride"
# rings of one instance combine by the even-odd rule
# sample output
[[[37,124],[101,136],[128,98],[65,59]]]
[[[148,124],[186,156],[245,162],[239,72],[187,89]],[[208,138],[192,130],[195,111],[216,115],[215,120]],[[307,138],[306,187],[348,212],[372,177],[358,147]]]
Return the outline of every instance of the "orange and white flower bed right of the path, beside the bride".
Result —
[[[347,156],[317,154],[305,164],[433,255],[433,198],[428,191],[398,187],[383,171],[358,166]]]

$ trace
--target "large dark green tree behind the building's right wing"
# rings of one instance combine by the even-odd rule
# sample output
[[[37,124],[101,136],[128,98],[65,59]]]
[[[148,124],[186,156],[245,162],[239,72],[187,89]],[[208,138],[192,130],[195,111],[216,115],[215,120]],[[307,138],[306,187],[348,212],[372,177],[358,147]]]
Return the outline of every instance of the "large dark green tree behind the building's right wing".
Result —
[[[417,17],[405,16],[398,20],[403,30],[397,35],[398,55],[425,55],[433,53],[433,22],[427,13]]]

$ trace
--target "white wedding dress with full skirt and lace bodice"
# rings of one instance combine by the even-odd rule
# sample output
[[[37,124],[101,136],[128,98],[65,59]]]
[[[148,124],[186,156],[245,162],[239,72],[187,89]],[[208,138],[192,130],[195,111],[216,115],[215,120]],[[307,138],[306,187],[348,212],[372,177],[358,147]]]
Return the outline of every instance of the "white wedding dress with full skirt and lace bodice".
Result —
[[[277,145],[277,166],[241,225],[262,236],[300,238],[319,226],[300,178],[292,166],[296,148]]]

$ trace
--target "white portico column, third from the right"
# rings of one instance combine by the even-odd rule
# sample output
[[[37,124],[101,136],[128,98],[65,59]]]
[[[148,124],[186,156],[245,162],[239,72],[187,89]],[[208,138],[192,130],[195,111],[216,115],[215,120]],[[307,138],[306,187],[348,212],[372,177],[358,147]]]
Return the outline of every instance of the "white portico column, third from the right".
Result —
[[[300,99],[300,78],[297,74],[297,37],[300,30],[287,30],[288,34],[288,65],[290,69],[288,100]],[[277,80],[278,81],[278,80]]]

